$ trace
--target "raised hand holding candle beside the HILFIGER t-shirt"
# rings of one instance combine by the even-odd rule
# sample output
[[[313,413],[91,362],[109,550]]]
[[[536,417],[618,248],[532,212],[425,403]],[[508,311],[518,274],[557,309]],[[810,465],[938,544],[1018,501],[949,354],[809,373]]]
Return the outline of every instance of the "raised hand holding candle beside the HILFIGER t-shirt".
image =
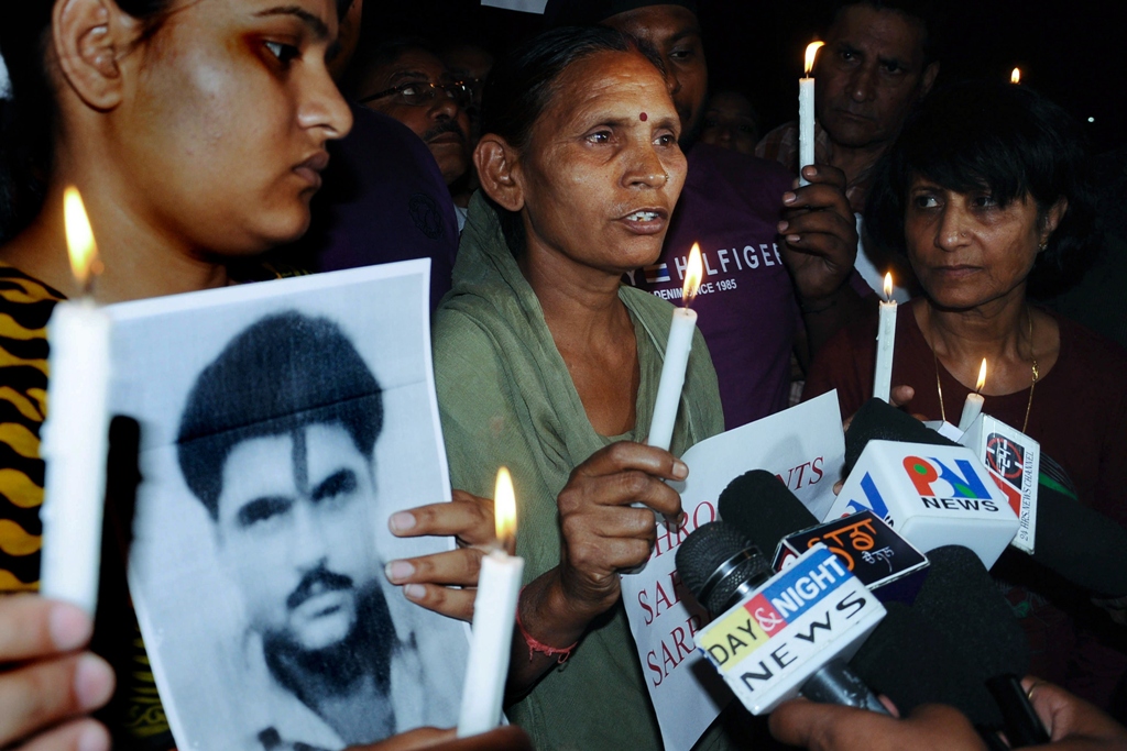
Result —
[[[853,270],[857,220],[845,197],[845,173],[826,164],[807,166],[809,185],[783,194],[779,234],[783,261],[799,298],[817,307],[828,301]]]

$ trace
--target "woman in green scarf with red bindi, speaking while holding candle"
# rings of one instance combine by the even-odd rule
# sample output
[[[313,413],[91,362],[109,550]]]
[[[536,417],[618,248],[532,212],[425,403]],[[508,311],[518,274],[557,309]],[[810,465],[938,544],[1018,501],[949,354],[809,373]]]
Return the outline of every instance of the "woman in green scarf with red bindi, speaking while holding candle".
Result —
[[[660,252],[680,120],[659,65],[609,29],[550,32],[495,77],[434,361],[453,485],[491,497],[505,465],[516,490],[507,712],[539,749],[660,748],[619,572],[649,557],[654,511],[681,513],[676,456],[724,426],[698,333],[672,453],[642,444],[673,307],[620,279]],[[472,520],[480,504],[447,506]],[[412,591],[468,615],[436,599],[453,590]]]

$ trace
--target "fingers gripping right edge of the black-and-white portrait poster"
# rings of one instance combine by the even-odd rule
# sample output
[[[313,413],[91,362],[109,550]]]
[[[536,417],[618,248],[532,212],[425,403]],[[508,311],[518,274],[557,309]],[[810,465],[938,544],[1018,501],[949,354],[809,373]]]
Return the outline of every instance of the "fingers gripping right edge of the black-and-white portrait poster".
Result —
[[[454,536],[458,549],[391,561],[388,581],[402,584],[407,599],[459,620],[473,619],[481,556],[497,539],[492,501],[455,490],[450,503],[397,511],[388,519],[397,537]],[[512,552],[512,551],[511,551]]]

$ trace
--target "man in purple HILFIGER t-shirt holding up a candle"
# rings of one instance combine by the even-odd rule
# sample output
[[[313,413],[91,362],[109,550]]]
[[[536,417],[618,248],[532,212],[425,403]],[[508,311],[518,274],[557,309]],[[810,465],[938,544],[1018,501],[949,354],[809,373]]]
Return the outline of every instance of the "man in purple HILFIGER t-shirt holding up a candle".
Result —
[[[720,381],[726,427],[786,408],[791,351],[807,361],[864,305],[845,284],[857,230],[844,176],[809,168],[805,177],[811,185],[792,190],[778,163],[693,144],[708,65],[691,0],[551,0],[544,12],[559,26],[612,26],[660,54],[681,115],[689,177],[662,257],[628,281],[677,302],[685,258],[699,242],[704,281],[693,310]]]

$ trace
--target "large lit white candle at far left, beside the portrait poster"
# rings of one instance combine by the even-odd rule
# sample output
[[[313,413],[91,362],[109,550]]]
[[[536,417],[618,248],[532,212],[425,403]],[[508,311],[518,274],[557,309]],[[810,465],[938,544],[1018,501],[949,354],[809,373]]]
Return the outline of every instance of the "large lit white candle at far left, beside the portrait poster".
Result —
[[[39,592],[73,602],[92,616],[109,446],[110,323],[90,294],[98,251],[74,188],[63,196],[63,214],[71,267],[85,293],[80,299],[56,304],[47,323],[51,379],[39,449],[47,465],[39,513]]]

